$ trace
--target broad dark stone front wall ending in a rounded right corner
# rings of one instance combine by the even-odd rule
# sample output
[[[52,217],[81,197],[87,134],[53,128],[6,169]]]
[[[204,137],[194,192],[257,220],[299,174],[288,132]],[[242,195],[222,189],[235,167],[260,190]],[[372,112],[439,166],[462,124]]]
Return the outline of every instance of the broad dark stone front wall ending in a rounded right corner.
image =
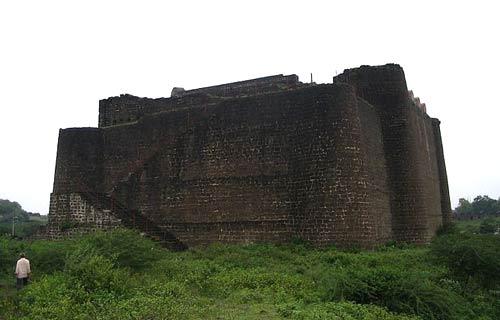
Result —
[[[104,185],[191,245],[292,236],[365,245],[375,222],[356,113],[352,89],[330,85],[106,128]]]

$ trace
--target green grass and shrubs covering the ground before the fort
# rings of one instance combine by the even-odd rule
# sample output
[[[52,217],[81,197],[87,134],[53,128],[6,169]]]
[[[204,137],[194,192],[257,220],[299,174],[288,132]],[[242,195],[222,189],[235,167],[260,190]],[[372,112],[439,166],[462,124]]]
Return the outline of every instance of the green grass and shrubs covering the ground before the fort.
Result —
[[[306,244],[169,252],[117,230],[0,238],[0,319],[500,319],[500,238],[451,230],[429,247]],[[17,293],[25,251],[33,282]]]

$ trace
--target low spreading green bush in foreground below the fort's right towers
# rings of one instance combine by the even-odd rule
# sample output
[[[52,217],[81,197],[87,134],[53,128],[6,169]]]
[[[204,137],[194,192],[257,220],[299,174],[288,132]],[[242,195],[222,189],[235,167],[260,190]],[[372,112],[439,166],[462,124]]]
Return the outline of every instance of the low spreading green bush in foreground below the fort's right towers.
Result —
[[[320,279],[327,301],[350,300],[421,316],[423,319],[454,319],[462,299],[442,289],[425,271],[397,265],[378,268],[335,267]]]

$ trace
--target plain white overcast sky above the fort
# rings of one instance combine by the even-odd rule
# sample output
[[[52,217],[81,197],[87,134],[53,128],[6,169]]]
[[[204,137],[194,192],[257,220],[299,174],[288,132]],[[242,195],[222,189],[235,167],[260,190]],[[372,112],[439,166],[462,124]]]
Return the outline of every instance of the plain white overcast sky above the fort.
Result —
[[[452,205],[500,196],[495,1],[1,1],[0,198],[46,214],[59,128],[98,101],[400,64],[441,120]]]

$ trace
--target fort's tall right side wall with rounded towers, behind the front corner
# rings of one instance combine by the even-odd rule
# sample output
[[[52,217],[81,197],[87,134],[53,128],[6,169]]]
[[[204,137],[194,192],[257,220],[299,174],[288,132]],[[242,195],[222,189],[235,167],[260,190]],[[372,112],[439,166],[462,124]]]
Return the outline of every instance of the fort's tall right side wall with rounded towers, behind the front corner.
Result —
[[[436,155],[432,119],[411,100],[402,68],[362,66],[346,70],[334,82],[351,84],[379,115],[391,194],[393,238],[429,241],[443,223],[439,190],[445,182],[438,178],[439,155]]]

